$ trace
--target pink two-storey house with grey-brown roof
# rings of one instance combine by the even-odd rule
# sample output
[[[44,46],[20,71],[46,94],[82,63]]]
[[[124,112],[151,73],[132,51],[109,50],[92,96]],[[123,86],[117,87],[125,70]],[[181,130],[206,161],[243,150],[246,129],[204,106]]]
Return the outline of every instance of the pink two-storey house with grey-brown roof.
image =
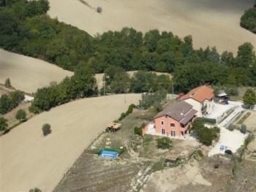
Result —
[[[150,123],[143,128],[143,135],[182,137],[188,134],[189,125],[196,117],[197,110],[185,101],[168,104]]]

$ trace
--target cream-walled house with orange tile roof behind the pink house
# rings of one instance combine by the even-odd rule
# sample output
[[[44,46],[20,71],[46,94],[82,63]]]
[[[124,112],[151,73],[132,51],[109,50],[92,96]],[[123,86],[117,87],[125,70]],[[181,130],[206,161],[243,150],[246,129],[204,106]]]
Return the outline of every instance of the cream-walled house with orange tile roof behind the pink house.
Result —
[[[189,93],[181,96],[181,100],[186,101],[197,110],[197,117],[209,115],[214,107],[214,90],[206,85],[194,88]]]

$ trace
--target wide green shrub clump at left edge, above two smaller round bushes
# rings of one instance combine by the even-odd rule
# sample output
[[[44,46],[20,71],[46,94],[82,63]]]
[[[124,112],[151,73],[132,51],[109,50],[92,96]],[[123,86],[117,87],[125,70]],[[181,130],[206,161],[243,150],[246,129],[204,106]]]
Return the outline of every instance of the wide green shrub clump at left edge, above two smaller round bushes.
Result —
[[[13,91],[0,97],[0,114],[4,115],[20,104],[25,99],[25,95],[21,91]]]

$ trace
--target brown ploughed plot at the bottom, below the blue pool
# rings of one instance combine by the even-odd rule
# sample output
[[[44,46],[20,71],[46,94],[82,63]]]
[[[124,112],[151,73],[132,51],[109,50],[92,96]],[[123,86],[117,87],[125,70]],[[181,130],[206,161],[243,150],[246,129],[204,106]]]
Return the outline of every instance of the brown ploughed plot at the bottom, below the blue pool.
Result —
[[[69,169],[55,192],[66,191],[129,191],[130,183],[142,167],[129,161],[99,158],[83,153]]]

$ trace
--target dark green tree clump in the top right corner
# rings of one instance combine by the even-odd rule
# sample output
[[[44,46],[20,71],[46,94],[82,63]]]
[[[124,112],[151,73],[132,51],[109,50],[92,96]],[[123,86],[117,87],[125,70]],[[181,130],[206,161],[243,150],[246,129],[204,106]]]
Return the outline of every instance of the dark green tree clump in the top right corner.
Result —
[[[240,26],[256,34],[256,1],[252,8],[244,12],[240,20]]]

